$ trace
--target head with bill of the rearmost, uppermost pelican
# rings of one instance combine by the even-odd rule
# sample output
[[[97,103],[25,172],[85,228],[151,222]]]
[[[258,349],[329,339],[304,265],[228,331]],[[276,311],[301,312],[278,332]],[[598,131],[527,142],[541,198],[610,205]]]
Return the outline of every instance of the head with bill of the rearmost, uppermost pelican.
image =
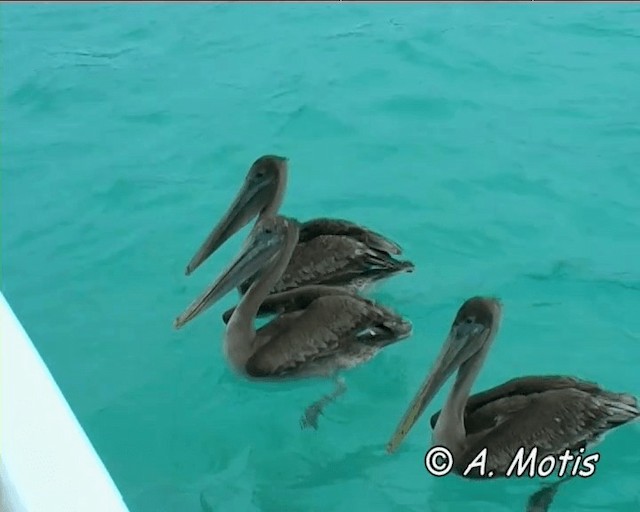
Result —
[[[191,258],[185,270],[186,275],[191,274],[256,215],[268,207],[271,210],[269,213],[276,213],[282,202],[287,161],[283,156],[265,155],[253,162],[233,203]]]

